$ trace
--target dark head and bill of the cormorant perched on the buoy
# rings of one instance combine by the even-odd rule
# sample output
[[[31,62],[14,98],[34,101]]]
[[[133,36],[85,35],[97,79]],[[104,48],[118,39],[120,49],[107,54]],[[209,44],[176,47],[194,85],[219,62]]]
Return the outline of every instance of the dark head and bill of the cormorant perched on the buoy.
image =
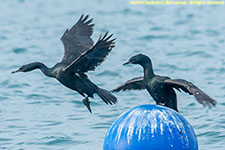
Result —
[[[135,56],[132,56],[128,62],[124,63],[123,65],[127,64],[140,64],[143,65],[145,63],[151,63],[151,60],[148,56],[143,55],[143,54],[137,54]]]

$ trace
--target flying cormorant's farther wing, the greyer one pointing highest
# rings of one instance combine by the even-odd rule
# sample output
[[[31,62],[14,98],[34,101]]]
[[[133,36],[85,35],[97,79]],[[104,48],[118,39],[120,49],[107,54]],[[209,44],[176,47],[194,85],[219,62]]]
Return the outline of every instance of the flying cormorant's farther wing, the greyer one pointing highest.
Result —
[[[61,40],[64,45],[64,57],[62,63],[70,64],[83,52],[93,46],[91,35],[93,33],[93,19],[88,19],[88,15],[82,15],[71,29],[67,29]]]

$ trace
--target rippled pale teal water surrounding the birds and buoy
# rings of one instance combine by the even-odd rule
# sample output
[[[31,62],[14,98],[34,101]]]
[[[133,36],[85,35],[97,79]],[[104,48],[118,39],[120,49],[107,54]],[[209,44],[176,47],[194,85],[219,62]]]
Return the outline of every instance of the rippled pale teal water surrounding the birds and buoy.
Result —
[[[119,103],[82,97],[38,70],[11,74],[33,61],[53,66],[63,55],[60,37],[82,13],[101,32],[117,38],[116,47],[89,78],[112,89],[142,75],[139,66],[122,64],[144,53],[157,74],[184,78],[218,101],[207,109],[194,97],[178,93],[180,113],[192,124],[200,150],[225,147],[224,6],[130,5],[128,0],[5,0],[0,3],[0,149],[101,150],[111,123],[124,111],[154,104],[146,91],[117,93]]]

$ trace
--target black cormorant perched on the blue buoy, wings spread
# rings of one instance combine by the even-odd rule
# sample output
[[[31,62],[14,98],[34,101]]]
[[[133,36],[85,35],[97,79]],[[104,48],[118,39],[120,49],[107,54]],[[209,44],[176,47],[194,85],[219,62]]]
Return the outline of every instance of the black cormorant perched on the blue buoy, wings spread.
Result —
[[[129,59],[126,64],[139,64],[144,68],[144,77],[137,77],[128,80],[125,84],[112,90],[112,92],[125,90],[143,90],[147,89],[157,105],[164,105],[176,111],[177,96],[174,89],[194,95],[197,101],[204,106],[215,106],[216,101],[210,98],[206,93],[200,90],[193,83],[183,79],[170,79],[166,76],[156,75],[153,71],[151,59],[143,54],[138,54]]]

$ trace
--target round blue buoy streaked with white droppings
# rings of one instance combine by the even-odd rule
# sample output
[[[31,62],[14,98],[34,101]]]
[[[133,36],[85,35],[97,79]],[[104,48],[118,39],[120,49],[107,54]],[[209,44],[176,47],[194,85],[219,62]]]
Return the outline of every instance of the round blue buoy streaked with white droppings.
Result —
[[[198,150],[193,128],[176,111],[158,105],[123,113],[108,130],[104,150]]]

